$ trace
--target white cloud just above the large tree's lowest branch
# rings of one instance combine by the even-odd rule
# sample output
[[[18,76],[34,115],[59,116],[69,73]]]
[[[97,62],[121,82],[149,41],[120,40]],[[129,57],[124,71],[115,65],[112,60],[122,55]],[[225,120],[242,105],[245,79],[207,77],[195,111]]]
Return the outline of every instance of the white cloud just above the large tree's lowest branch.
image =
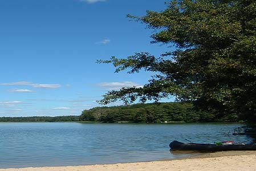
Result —
[[[99,83],[97,87],[105,88],[107,90],[119,90],[122,87],[142,87],[140,84],[133,82],[112,82],[112,83]]]

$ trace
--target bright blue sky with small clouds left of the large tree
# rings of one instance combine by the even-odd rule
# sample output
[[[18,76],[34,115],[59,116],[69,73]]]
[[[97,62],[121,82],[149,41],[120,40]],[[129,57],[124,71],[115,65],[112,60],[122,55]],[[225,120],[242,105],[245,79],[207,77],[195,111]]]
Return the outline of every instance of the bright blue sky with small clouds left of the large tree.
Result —
[[[115,74],[96,60],[168,51],[126,18],[164,10],[164,2],[0,0],[0,116],[80,115],[108,90],[147,83],[151,73]]]

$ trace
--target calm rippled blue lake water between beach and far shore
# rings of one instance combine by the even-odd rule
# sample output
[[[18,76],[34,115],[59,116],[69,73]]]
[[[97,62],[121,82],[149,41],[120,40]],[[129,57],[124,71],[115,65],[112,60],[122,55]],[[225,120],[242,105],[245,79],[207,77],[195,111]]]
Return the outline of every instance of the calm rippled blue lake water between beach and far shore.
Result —
[[[1,123],[0,168],[113,164],[191,156],[195,153],[171,153],[170,141],[251,143],[249,137],[232,135],[234,128],[239,126]]]

